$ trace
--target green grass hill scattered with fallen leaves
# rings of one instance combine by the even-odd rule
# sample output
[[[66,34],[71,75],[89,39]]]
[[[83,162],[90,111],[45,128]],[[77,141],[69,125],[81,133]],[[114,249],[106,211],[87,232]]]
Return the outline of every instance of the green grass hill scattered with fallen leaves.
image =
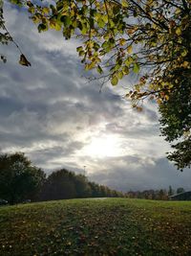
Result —
[[[0,255],[191,255],[191,202],[108,198],[1,207]]]

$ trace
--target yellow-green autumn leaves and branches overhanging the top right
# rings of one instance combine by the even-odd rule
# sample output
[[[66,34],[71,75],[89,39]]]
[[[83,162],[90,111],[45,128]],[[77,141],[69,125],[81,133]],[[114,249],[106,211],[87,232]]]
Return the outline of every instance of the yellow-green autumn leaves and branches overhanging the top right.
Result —
[[[11,2],[26,4],[39,33],[60,31],[66,39],[77,36],[77,52],[86,70],[117,85],[131,72],[138,84],[127,96],[133,100],[155,95],[168,100],[175,86],[170,72],[190,71],[190,0],[57,0]],[[140,72],[141,71],[141,72]]]

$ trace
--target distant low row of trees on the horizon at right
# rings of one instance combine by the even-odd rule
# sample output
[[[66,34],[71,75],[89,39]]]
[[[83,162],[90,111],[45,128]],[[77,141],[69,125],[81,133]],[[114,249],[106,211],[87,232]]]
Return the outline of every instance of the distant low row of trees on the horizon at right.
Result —
[[[170,196],[185,192],[183,188],[174,190],[171,186],[169,189],[160,190],[144,190],[144,191],[129,191],[125,194],[127,198],[144,198],[144,199],[155,199],[155,200],[167,200]]]

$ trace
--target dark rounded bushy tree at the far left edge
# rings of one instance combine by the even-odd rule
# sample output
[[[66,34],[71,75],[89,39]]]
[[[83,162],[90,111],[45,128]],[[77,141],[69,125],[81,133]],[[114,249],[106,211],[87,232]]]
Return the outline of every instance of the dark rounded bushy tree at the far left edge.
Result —
[[[44,172],[32,166],[24,153],[0,155],[0,198],[11,204],[35,198],[44,180]]]

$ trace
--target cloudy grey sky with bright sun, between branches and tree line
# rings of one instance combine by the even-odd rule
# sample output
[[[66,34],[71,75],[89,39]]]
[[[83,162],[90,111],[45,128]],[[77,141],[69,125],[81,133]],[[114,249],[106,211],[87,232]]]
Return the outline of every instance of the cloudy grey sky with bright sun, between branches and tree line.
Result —
[[[126,87],[90,82],[76,53],[79,41],[61,33],[39,34],[28,15],[5,5],[6,26],[31,67],[18,64],[13,44],[0,45],[0,150],[23,151],[47,174],[66,168],[119,191],[191,189],[189,169],[166,159],[170,146],[159,136],[154,102],[143,111],[124,99]]]

